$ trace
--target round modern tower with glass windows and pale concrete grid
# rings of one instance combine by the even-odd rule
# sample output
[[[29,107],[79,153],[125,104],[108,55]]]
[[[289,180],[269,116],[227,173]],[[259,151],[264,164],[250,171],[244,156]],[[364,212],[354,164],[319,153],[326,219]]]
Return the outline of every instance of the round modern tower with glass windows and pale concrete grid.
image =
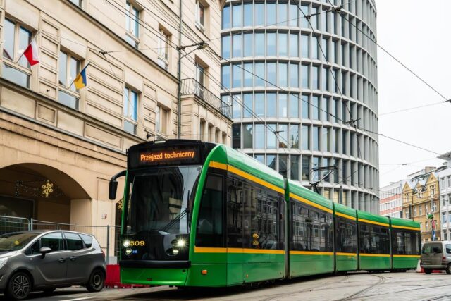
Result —
[[[335,166],[321,193],[377,213],[376,6],[331,1],[341,14],[327,0],[226,1],[222,97],[234,148],[306,186]]]

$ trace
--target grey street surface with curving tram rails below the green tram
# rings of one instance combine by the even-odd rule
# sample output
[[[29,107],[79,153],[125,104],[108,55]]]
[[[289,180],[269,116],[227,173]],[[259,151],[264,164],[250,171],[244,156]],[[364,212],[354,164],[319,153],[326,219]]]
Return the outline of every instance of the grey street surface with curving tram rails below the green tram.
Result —
[[[280,281],[260,287],[178,290],[177,288],[58,289],[51,295],[33,293],[31,300],[451,300],[451,275],[407,273],[352,273]],[[0,297],[0,300],[6,300]]]

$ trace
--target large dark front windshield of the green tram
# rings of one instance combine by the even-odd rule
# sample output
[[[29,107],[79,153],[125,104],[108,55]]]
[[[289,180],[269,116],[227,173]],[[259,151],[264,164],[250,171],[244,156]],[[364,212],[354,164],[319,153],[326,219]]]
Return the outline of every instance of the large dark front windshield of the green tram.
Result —
[[[189,233],[200,170],[200,166],[175,166],[130,172],[125,233]]]

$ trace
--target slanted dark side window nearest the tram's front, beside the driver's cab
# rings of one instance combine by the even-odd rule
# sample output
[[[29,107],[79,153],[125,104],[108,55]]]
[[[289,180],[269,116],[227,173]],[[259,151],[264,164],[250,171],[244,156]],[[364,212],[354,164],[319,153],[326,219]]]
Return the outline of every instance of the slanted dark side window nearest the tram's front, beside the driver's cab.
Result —
[[[196,245],[223,247],[223,177],[209,174],[199,207]]]

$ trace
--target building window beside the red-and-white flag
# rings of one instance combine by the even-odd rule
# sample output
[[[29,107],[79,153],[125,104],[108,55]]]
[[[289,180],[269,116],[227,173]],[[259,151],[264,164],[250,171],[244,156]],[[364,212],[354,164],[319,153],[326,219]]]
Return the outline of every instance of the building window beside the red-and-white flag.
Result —
[[[31,42],[31,32],[11,20],[5,19],[4,23],[4,63],[1,74],[3,78],[11,80],[22,87],[30,87],[30,64],[25,56],[20,60],[19,56]],[[17,63],[16,63],[17,62]]]

